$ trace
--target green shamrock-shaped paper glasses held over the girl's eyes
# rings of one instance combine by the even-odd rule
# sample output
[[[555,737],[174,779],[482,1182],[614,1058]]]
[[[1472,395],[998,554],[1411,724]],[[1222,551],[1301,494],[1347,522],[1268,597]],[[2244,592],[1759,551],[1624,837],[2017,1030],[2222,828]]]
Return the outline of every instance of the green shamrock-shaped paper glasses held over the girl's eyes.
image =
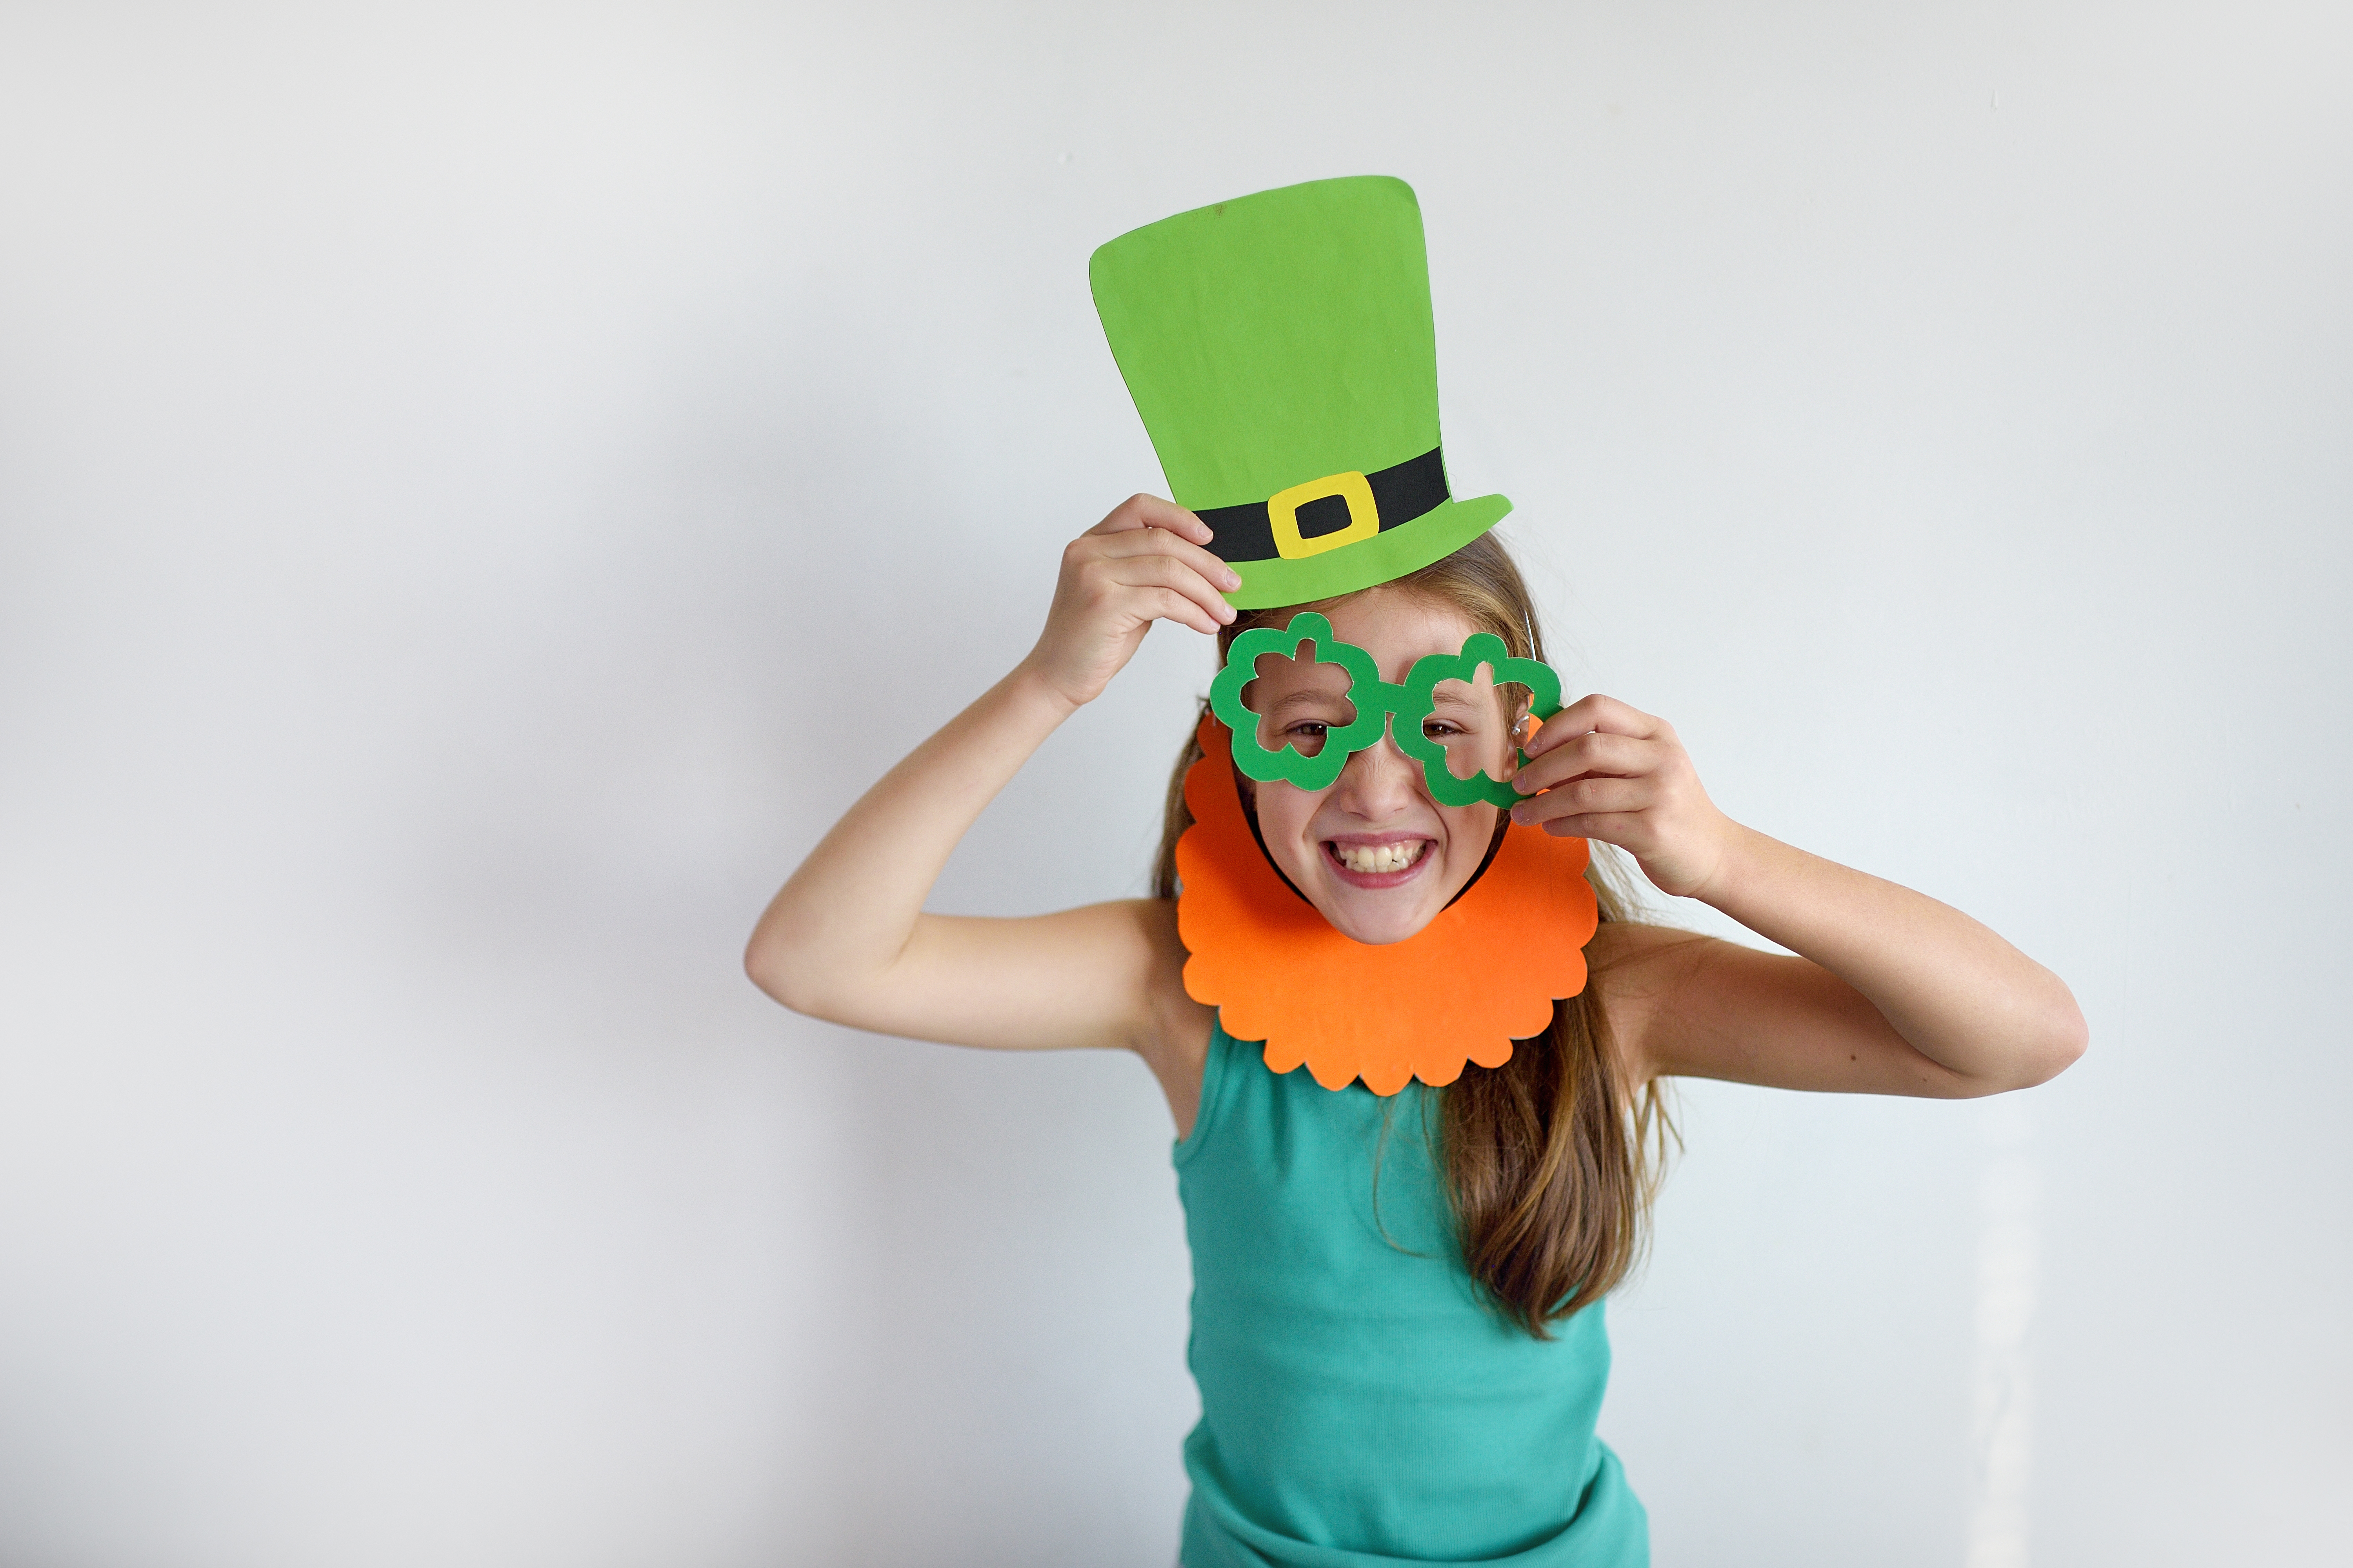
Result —
[[[1353,715],[1346,724],[1311,717],[1304,729],[1315,729],[1315,736],[1287,738],[1275,750],[1266,750],[1259,738],[1259,722],[1268,715],[1242,703],[1242,686],[1259,679],[1259,661],[1268,654],[1299,658],[1301,649],[1308,649],[1308,658],[1315,663],[1339,665],[1348,672],[1346,703],[1353,708]],[[1560,712],[1560,677],[1553,675],[1553,668],[1534,658],[1513,658],[1504,639],[1494,632],[1473,635],[1459,654],[1417,658],[1414,668],[1405,675],[1405,684],[1398,686],[1381,679],[1381,668],[1372,661],[1372,654],[1353,642],[1339,642],[1332,635],[1332,623],[1311,609],[1292,616],[1287,628],[1259,625],[1235,637],[1233,649],[1226,654],[1226,668],[1209,682],[1209,710],[1233,731],[1233,764],[1259,783],[1280,778],[1301,790],[1327,790],[1339,778],[1339,771],[1348,766],[1348,757],[1367,745],[1379,745],[1381,733],[1393,731],[1398,750],[1421,764],[1421,778],[1438,804],[1468,806],[1487,802],[1492,806],[1511,806],[1520,799],[1518,790],[1492,778],[1487,769],[1478,769],[1468,778],[1457,778],[1447,766],[1445,741],[1426,733],[1433,715],[1445,705],[1438,693],[1440,682],[1475,684],[1480,665],[1494,670],[1499,686],[1527,686],[1532,693],[1529,712],[1537,719]],[[1322,701],[1332,703],[1332,696],[1322,696]],[[1395,726],[1391,726],[1391,715],[1395,715]],[[1520,752],[1520,762],[1527,762],[1527,752]]]

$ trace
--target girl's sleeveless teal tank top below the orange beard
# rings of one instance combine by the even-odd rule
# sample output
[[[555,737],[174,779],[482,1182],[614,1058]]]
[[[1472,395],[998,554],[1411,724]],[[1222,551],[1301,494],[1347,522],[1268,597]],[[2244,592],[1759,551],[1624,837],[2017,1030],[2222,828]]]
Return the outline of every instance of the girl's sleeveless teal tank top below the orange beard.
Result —
[[[1184,1568],[1647,1568],[1649,1521],[1593,1434],[1602,1309],[1534,1340],[1480,1302],[1435,1126],[1421,1084],[1334,1093],[1212,1027],[1176,1145],[1200,1385]]]

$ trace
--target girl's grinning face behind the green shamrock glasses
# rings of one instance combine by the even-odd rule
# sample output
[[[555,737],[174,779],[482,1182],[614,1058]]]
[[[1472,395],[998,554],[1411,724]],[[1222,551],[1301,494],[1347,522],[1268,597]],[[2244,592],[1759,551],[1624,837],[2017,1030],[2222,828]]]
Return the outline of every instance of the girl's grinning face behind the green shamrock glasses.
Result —
[[[1341,642],[1372,654],[1381,679],[1402,682],[1424,654],[1459,654],[1480,628],[1452,604],[1374,588],[1325,611]],[[1242,703],[1259,715],[1259,743],[1313,755],[1325,729],[1346,724],[1348,675],[1306,658],[1261,658]],[[1395,724],[1395,717],[1391,717]],[[1445,743],[1449,766],[1468,778],[1511,778],[1518,750],[1511,717],[1489,672],[1478,686],[1442,682],[1426,733]],[[1360,943],[1402,943],[1471,882],[1494,842],[1497,806],[1440,806],[1421,764],[1391,738],[1348,757],[1327,790],[1261,783],[1254,790],[1266,853],[1337,931]]]

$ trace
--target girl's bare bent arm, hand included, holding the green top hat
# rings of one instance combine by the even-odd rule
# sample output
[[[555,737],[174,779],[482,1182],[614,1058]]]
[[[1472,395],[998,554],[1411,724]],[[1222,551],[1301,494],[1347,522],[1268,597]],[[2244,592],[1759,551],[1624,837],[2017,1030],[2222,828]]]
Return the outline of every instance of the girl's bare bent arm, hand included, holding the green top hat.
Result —
[[[1148,898],[1033,919],[925,914],[965,830],[1031,752],[1104,691],[1153,621],[1214,635],[1233,571],[1209,529],[1134,496],[1064,550],[1045,632],[1012,675],[918,745],[833,825],[760,917],[744,969],[798,1013],[958,1046],[1160,1044],[1200,1023],[1176,917]],[[1162,1077],[1169,1077],[1162,1072]]]

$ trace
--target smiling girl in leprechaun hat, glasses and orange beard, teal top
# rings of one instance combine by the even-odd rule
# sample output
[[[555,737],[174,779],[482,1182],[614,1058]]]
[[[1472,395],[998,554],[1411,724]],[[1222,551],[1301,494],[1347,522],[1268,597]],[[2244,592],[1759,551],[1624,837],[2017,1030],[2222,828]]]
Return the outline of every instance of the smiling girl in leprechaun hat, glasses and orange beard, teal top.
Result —
[[[1158,1077],[1202,1396],[1186,1568],[1647,1563],[1593,1422],[1657,1081],[1965,1098],[2085,1046],[2066,985],[1993,931],[1725,818],[1664,719],[1548,701],[1537,609],[1485,531],[1504,508],[1398,477],[1438,468],[1419,268],[1395,181],[1245,197],[1096,256],[1193,508],[1134,496],[1064,550],[1035,649],[849,809],[746,957],[842,1025],[1120,1046]],[[1402,336],[1367,277],[1402,277]],[[1139,299],[1176,324],[1139,329]],[[1191,409],[1151,369],[1179,339],[1162,362],[1217,388]],[[1367,374],[1400,362],[1417,411],[1384,423]],[[1179,762],[1155,896],[925,914],[972,820],[1155,621],[1221,663],[1249,639],[1214,686],[1226,722]],[[1798,957],[1628,919],[1586,839]]]

